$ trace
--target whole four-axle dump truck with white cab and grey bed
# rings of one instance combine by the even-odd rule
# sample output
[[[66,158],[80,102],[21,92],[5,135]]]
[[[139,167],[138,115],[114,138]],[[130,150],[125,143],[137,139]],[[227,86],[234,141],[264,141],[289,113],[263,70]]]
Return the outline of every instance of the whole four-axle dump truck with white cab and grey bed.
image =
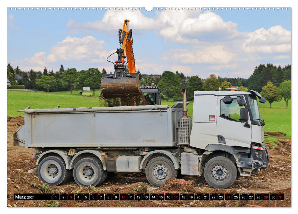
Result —
[[[107,173],[145,171],[153,186],[168,178],[204,175],[215,188],[231,186],[269,164],[264,120],[255,91],[195,91],[193,118],[183,102],[168,105],[32,109],[14,146],[35,148],[41,181],[69,176],[97,186]],[[258,99],[257,99],[258,98]]]

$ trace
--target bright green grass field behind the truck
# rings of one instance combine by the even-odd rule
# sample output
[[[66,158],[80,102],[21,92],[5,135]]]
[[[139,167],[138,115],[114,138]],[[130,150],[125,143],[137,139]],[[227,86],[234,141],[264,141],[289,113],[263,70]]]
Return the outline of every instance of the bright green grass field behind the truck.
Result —
[[[60,105],[60,108],[71,107],[87,107],[99,106],[98,96],[100,90],[95,91],[96,97],[83,97],[79,95],[80,91],[60,91],[60,92],[33,92],[33,91],[7,91],[7,115],[9,116],[24,116],[24,113],[17,112],[24,110],[31,105],[32,108],[55,108]],[[161,100],[161,104],[168,104],[170,107],[176,101]],[[283,107],[281,107],[283,106]],[[188,115],[192,117],[193,101],[189,101]],[[273,102],[272,108],[269,108],[269,103],[259,103],[262,119],[265,120],[265,131],[281,131],[291,137],[291,101],[289,101],[288,109],[285,108],[285,102]]]

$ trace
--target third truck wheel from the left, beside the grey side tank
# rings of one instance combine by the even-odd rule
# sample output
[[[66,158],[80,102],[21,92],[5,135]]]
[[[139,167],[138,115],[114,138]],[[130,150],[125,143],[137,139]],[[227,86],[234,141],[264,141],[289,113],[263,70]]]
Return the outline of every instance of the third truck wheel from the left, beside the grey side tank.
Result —
[[[167,179],[176,177],[177,170],[166,157],[155,157],[146,166],[146,178],[153,186],[160,187]]]

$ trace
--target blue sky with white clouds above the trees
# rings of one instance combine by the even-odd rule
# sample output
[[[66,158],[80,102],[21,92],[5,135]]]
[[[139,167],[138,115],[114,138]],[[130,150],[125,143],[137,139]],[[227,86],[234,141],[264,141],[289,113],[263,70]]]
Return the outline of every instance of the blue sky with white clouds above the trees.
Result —
[[[106,57],[118,47],[118,29],[130,19],[136,68],[207,78],[248,78],[259,64],[291,63],[291,8],[211,10],[10,10],[7,63],[21,70],[96,67],[113,71]],[[110,59],[116,60],[113,55]]]

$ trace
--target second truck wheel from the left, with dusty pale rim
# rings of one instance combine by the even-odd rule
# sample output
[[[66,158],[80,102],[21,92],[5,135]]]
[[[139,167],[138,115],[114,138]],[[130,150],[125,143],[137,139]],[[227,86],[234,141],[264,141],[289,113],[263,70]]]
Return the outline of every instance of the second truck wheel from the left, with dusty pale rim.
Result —
[[[106,179],[107,171],[98,158],[86,157],[79,160],[73,168],[73,178],[80,186],[97,186]]]

